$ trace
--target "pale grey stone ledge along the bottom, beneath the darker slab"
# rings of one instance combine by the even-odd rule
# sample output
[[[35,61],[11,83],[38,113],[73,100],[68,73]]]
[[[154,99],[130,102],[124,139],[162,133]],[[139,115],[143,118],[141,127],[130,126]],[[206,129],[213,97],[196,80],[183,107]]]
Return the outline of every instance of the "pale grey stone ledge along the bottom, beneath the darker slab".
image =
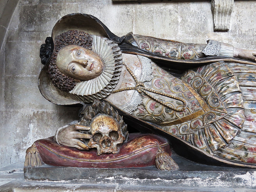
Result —
[[[235,189],[236,192],[244,190]],[[73,184],[65,182],[28,182],[17,179],[4,186],[0,186],[0,192],[234,192],[233,188],[197,188],[197,187],[163,187],[163,186],[127,186],[127,185],[103,185],[103,184]],[[246,192],[255,190],[246,189]]]

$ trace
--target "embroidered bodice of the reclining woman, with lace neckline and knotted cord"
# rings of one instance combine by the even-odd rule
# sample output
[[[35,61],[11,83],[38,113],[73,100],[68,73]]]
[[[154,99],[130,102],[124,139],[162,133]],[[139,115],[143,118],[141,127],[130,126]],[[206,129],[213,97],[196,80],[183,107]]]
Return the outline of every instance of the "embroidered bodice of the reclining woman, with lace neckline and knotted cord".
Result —
[[[156,123],[174,121],[202,110],[192,92],[180,79],[146,57],[136,56],[127,62],[126,56],[123,57],[120,80],[107,98],[120,109],[137,118]],[[130,61],[135,62],[135,65]],[[135,88],[136,82],[126,66],[144,84],[144,92],[129,90]]]

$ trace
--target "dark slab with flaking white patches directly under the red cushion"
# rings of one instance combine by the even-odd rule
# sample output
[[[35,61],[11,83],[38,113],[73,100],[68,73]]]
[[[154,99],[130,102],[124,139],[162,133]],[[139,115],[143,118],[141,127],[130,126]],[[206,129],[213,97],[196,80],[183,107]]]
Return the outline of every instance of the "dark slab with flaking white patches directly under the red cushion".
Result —
[[[211,166],[212,167],[212,166]],[[159,171],[147,168],[71,168],[44,165],[24,168],[25,178],[37,181],[69,181],[86,184],[175,187],[256,188],[256,171],[240,168],[223,170]],[[75,178],[75,179],[74,179]]]

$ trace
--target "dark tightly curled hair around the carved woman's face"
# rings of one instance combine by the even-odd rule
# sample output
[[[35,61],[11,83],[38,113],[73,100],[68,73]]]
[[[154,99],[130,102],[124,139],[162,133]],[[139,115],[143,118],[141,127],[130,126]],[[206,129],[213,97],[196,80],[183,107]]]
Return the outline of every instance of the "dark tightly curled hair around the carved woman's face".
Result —
[[[92,49],[92,36],[86,32],[70,30],[58,35],[54,42],[54,53],[48,66],[48,74],[54,86],[62,91],[70,91],[76,86],[74,78],[61,73],[56,66],[56,58],[60,49],[66,45],[78,45]]]

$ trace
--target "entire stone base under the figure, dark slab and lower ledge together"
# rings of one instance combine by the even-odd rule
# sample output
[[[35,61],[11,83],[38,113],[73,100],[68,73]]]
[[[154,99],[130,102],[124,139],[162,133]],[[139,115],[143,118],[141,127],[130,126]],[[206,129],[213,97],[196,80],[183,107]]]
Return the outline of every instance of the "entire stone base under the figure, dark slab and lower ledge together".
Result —
[[[0,170],[0,192],[255,192],[256,170],[196,164],[174,154],[178,171],[148,168],[71,168],[22,164]],[[25,178],[24,179],[24,175]]]

